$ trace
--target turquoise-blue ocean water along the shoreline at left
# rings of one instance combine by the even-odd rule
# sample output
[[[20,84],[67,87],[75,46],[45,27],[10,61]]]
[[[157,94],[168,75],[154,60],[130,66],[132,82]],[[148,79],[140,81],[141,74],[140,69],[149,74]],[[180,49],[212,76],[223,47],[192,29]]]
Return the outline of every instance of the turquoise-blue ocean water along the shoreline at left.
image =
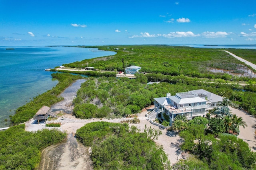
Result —
[[[77,47],[0,47],[0,128],[9,125],[4,120],[15,109],[58,83],[52,80],[53,72],[44,69],[114,54]]]

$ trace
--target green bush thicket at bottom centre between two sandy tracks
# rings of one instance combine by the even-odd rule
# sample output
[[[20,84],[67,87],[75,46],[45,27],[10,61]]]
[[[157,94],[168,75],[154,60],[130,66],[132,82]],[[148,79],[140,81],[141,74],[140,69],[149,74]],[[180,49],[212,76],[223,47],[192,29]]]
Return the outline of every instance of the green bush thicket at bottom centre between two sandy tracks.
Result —
[[[85,146],[92,147],[91,159],[95,169],[108,170],[165,170],[170,162],[154,139],[160,130],[145,128],[140,133],[136,126],[127,123],[88,123],[76,132]]]

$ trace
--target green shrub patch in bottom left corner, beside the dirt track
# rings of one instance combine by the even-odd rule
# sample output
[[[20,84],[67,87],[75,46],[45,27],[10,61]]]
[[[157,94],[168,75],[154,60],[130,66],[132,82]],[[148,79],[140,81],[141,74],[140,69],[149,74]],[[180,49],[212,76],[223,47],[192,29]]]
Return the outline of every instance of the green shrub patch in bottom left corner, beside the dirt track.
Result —
[[[56,129],[25,131],[25,124],[0,131],[0,169],[34,170],[40,163],[41,151],[66,138]]]

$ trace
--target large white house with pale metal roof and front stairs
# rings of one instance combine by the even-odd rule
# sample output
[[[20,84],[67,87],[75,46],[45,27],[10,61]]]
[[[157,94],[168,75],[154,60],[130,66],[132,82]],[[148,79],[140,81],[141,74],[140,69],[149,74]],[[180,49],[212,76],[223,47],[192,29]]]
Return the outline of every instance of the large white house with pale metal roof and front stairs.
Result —
[[[176,93],[174,96],[168,93],[166,97],[154,98],[154,100],[155,109],[148,114],[148,118],[151,119],[158,113],[166,114],[169,115],[170,125],[172,125],[172,121],[177,115],[184,115],[188,119],[196,116],[204,117],[208,109],[212,109],[218,102],[222,101],[222,97],[200,89]]]

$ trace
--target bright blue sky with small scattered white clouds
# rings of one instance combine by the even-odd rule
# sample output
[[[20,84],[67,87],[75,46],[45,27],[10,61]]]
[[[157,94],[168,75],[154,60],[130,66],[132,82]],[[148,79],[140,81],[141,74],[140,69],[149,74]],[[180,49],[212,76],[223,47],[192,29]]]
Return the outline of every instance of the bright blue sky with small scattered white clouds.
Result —
[[[256,0],[0,0],[0,46],[256,44]]]

